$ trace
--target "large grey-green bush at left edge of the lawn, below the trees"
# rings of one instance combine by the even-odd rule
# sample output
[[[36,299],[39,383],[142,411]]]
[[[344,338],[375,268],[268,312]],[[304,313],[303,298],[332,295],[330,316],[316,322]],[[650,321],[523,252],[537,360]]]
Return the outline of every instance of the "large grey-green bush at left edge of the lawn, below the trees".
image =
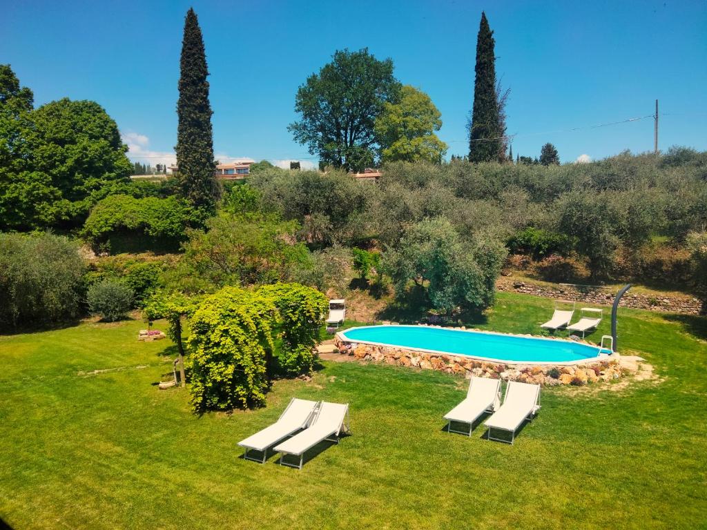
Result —
[[[0,233],[0,326],[76,317],[85,268],[67,237]]]

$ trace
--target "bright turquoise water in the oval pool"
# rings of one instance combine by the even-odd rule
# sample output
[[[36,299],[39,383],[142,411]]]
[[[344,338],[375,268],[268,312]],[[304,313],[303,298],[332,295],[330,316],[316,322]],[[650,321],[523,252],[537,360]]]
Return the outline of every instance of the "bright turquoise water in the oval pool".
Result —
[[[341,334],[350,342],[419,348],[513,363],[572,363],[597,357],[600,353],[596,346],[571,341],[428,326],[366,326]]]

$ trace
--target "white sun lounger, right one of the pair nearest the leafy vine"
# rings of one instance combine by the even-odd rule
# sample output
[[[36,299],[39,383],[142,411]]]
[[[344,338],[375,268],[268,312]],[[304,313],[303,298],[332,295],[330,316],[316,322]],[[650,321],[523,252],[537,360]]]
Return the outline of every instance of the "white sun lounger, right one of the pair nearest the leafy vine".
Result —
[[[274,447],[274,451],[282,453],[280,455],[280,464],[302,469],[305,452],[324,440],[337,442],[338,444],[341,431],[349,432],[348,420],[348,404],[340,405],[322,401],[308,429]],[[288,454],[300,457],[300,463],[298,465],[288,464],[284,461],[284,457]]]

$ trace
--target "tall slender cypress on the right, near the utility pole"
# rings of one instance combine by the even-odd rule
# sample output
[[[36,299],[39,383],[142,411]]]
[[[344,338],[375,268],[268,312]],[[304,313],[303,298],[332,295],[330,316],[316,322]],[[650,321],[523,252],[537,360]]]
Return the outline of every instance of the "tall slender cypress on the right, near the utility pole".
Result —
[[[499,160],[503,142],[498,139],[498,97],[496,95],[496,56],[493,54],[493,31],[486,13],[481,12],[477,37],[476,81],[474,82],[474,109],[469,124],[469,160],[491,162]]]

